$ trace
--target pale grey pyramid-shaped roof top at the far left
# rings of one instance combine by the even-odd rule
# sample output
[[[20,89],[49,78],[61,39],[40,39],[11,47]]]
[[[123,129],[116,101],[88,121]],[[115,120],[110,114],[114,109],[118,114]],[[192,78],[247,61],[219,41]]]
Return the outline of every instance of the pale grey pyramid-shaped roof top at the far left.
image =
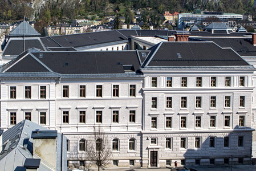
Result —
[[[40,36],[39,32],[26,21],[21,22],[16,28],[11,30],[9,36]]]

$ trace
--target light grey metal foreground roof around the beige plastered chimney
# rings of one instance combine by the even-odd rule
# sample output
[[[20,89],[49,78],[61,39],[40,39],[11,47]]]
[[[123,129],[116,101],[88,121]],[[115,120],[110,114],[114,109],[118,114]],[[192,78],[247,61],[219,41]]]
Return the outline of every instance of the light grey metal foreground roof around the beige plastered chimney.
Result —
[[[33,158],[33,140],[31,139],[31,133],[35,129],[40,129],[42,131],[47,131],[47,128],[42,127],[36,123],[33,123],[29,120],[23,120],[20,123],[14,125],[7,131],[3,132],[2,142],[3,142],[3,150],[0,154],[0,166],[3,171],[25,171],[26,169],[23,167],[26,161],[26,158]],[[62,134],[58,134],[60,139],[58,139],[58,144],[64,148],[66,148],[66,139],[62,136]],[[64,140],[65,143],[62,143]],[[57,164],[57,170],[67,170],[67,165],[62,165],[63,162],[67,162],[67,153],[66,150],[60,148],[62,150],[58,150],[57,146],[57,156],[59,156],[60,162]],[[60,154],[59,154],[60,153]],[[59,166],[59,167],[58,167]],[[39,171],[48,171],[48,166],[41,161],[39,166]]]

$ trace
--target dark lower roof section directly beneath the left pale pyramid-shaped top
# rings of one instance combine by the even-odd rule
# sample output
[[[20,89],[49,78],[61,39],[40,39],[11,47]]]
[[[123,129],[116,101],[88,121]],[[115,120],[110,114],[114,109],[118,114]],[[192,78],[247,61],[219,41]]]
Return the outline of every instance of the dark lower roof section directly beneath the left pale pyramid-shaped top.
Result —
[[[25,46],[24,46],[25,42]],[[5,49],[3,50],[3,56],[10,55],[10,56],[18,56],[23,51],[28,50],[29,48],[39,48],[40,50],[44,50],[40,39],[9,39],[7,42]]]

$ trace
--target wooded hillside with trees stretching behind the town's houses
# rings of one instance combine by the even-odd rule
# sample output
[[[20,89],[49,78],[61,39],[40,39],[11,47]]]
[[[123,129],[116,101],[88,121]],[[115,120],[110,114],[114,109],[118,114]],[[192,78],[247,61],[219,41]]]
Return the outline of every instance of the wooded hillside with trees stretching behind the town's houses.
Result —
[[[256,8],[254,0],[0,0],[0,21],[14,22],[26,16],[30,21],[55,25],[79,18],[101,19],[118,12],[129,23],[131,10],[140,10],[145,22],[148,17],[157,22],[164,11],[194,13],[196,9],[255,15]]]

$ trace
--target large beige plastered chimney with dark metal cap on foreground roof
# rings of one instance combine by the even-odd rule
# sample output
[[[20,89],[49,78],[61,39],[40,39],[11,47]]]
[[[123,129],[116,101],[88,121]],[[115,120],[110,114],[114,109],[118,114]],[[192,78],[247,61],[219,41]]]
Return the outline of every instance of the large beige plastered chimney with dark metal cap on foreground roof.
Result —
[[[56,169],[56,138],[57,131],[32,131],[33,158],[40,158]]]

